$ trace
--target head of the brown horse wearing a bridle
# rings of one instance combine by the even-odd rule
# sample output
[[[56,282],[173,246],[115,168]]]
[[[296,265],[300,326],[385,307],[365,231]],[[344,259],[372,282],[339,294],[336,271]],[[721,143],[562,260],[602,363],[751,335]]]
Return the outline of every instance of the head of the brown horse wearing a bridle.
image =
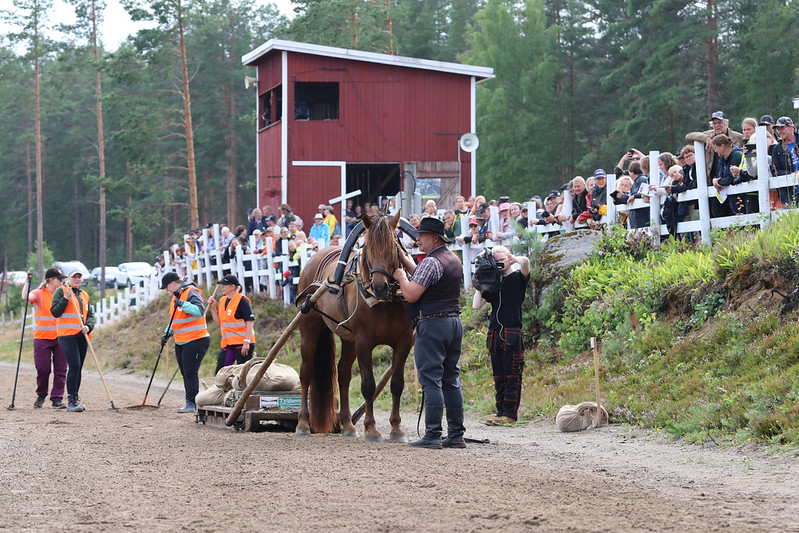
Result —
[[[391,297],[391,285],[394,283],[394,271],[402,266],[397,248],[397,224],[399,224],[400,211],[393,218],[380,215],[370,219],[363,217],[366,227],[364,237],[363,275],[372,294],[378,300],[388,300]]]

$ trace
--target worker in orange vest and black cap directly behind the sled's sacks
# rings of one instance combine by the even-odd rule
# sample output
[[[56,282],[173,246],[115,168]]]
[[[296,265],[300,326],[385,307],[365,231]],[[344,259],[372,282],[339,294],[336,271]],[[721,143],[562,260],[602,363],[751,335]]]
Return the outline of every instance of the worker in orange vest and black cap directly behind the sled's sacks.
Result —
[[[239,292],[241,284],[236,276],[225,276],[219,280],[219,286],[223,294],[219,307],[213,296],[208,299],[211,318],[222,329],[222,349],[216,357],[217,373],[222,367],[249,361],[255,352],[252,302]]]

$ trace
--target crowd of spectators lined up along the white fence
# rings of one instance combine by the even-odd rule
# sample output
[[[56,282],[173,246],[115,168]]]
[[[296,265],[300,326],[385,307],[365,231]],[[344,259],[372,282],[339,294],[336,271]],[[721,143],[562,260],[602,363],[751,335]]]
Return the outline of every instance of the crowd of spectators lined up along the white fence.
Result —
[[[521,235],[522,231],[543,226],[541,233],[556,235],[566,222],[578,227],[598,228],[607,222],[607,203],[626,205],[626,212],[618,213],[613,222],[625,224],[629,229],[648,226],[650,223],[651,198],[659,197],[660,222],[669,233],[686,240],[694,240],[693,234],[677,234],[677,224],[698,216],[696,200],[679,201],[678,194],[697,187],[696,154],[694,142],[702,143],[705,150],[705,163],[708,184],[718,191],[716,197],[709,199],[711,217],[749,214],[758,211],[758,193],[725,193],[726,187],[758,178],[755,146],[755,131],[758,125],[767,128],[768,168],[772,175],[785,175],[799,170],[799,151],[796,143],[796,129],[790,117],[783,116],[776,121],[770,115],[760,120],[747,117],[741,123],[742,133],[730,128],[729,120],[722,111],[710,116],[709,129],[688,133],[685,145],[676,155],[662,152],[657,158],[657,168],[650,169],[649,158],[636,148],[631,148],[620,157],[613,168],[614,190],[608,192],[608,174],[604,169],[595,169],[586,179],[575,176],[559,189],[553,189],[545,196],[533,195],[523,202],[511,201],[509,197],[487,200],[484,196],[457,196],[454,202],[442,203],[440,199],[426,199],[421,214],[411,214],[408,221],[419,227],[425,217],[437,217],[444,222],[447,237],[455,245],[481,244],[488,241],[494,244],[509,244]],[[769,203],[772,209],[795,205],[797,187],[783,187],[772,191]],[[564,210],[564,198],[570,198],[571,208]],[[491,222],[492,206],[498,217]],[[218,242],[212,231],[200,228],[190,232],[185,246],[174,246],[171,262],[179,274],[186,267],[196,268],[203,251],[219,252],[222,263],[227,264],[236,256],[238,249],[245,253],[265,254],[267,246],[275,256],[289,256],[296,260],[303,244],[312,252],[329,245],[341,245],[345,233],[349,233],[364,214],[377,213],[393,215],[396,211],[393,199],[382,204],[366,203],[357,205],[347,200],[344,220],[339,221],[335,210],[327,204],[319,204],[310,224],[303,221],[291,206],[282,204],[277,212],[270,206],[253,208],[247,211],[247,222],[231,229],[222,226]],[[208,224],[208,228],[211,228]],[[413,246],[413,242],[410,243]],[[211,258],[216,261],[216,254]],[[262,261],[262,260],[259,260]],[[156,266],[163,267],[165,260],[160,257]],[[263,264],[259,265],[263,267]],[[251,265],[245,265],[250,269]],[[299,275],[299,267],[291,267],[283,272],[281,285]],[[248,287],[249,289],[250,287]]]

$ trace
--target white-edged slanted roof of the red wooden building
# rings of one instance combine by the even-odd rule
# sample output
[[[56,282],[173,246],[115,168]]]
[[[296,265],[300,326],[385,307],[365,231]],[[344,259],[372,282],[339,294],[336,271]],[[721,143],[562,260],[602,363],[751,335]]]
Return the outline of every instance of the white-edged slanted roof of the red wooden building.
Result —
[[[445,61],[433,61],[430,59],[417,59],[414,57],[394,56],[390,54],[376,54],[374,52],[363,52],[361,50],[349,50],[347,48],[336,48],[333,46],[321,46],[318,44],[299,43],[295,41],[284,41],[282,39],[271,39],[245,54],[241,62],[245,65],[252,65],[258,59],[272,50],[285,50],[302,54],[312,54],[338,59],[352,59],[367,63],[379,63],[382,65],[392,65],[395,67],[416,68],[422,70],[434,70],[437,72],[449,72],[464,76],[475,76],[478,81],[491,79],[494,77],[494,69],[491,67],[478,67],[474,65],[464,65],[461,63],[447,63]]]

